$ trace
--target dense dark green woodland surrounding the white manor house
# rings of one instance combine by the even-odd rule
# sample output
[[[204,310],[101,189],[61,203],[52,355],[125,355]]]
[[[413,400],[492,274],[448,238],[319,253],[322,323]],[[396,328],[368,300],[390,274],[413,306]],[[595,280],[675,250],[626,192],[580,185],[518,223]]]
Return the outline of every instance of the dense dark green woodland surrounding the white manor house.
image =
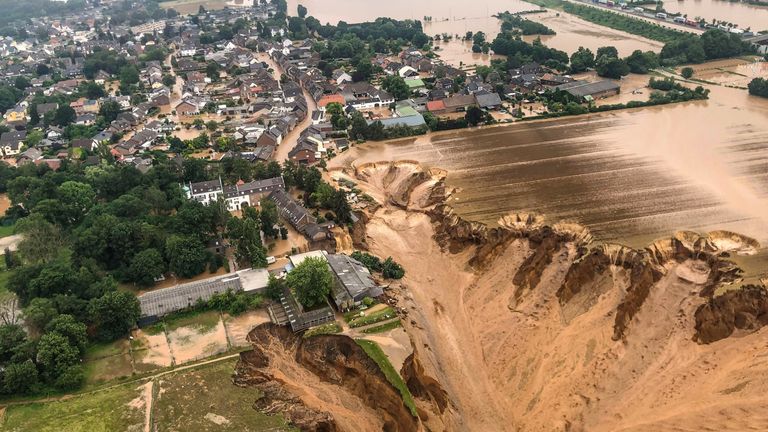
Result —
[[[277,225],[275,204],[265,199],[258,210],[246,208],[243,218],[233,218],[223,201],[205,206],[186,199],[181,184],[187,178],[283,174],[289,186],[304,190],[310,206],[327,208],[326,215],[339,223],[351,221],[345,194],[325,183],[316,168],[288,162],[282,169],[270,163],[244,170],[234,161],[214,167],[188,162],[181,169],[158,159],[146,174],[129,166],[66,162],[58,171],[33,164],[0,170],[0,189],[14,205],[9,214],[22,217],[17,231],[24,235],[18,253],[7,260],[15,266],[8,289],[31,330],[27,336],[15,322],[0,326],[0,391],[77,387],[88,341],[123,337],[139,317],[135,295],[118,290],[118,282],[148,286],[169,271],[186,278],[215,270],[224,259],[206,245],[223,236],[238,260],[266,265],[260,232],[286,234]],[[220,297],[206,307],[236,313],[253,306],[235,294]]]

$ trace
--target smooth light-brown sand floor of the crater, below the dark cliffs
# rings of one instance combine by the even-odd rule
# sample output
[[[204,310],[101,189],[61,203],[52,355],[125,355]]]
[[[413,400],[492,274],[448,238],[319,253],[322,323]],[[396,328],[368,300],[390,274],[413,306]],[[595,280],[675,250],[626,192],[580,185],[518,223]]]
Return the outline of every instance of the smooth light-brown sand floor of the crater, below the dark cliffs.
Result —
[[[391,294],[408,311],[404,326],[427,374],[448,393],[446,430],[742,431],[768,424],[768,331],[694,342],[704,287],[678,277],[700,272],[694,262],[668,262],[614,341],[628,271],[611,266],[592,291],[562,306],[557,291],[576,257],[573,243],[558,246],[527,289],[512,280],[530,264],[528,240],[505,243],[475,271],[472,247],[452,254],[433,240],[430,217],[415,211],[429,189],[405,186],[417,171],[406,165],[395,175],[366,171],[361,189],[385,204],[407,189],[411,209],[385,205],[369,221],[366,241],[406,269],[406,288]]]

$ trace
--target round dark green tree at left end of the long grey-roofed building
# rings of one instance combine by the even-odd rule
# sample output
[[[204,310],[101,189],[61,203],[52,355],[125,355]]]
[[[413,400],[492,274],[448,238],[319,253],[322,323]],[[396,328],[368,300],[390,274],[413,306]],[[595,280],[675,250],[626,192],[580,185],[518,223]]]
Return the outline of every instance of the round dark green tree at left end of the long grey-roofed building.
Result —
[[[139,300],[125,291],[112,291],[91,300],[88,314],[96,326],[99,339],[109,341],[123,337],[141,316]]]

